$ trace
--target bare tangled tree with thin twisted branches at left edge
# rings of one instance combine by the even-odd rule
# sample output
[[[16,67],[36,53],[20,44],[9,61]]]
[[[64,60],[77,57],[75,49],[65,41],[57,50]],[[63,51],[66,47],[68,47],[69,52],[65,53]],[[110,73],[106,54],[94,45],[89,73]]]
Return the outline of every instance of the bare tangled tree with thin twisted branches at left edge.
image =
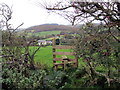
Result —
[[[3,62],[16,64],[17,67],[23,67],[30,64],[31,69],[35,69],[34,57],[40,49],[37,47],[33,52],[30,51],[31,43],[36,40],[27,40],[26,34],[18,34],[17,30],[20,26],[13,28],[9,21],[12,18],[12,9],[6,4],[0,4],[0,29],[2,31],[2,57]],[[20,67],[19,67],[20,68]]]

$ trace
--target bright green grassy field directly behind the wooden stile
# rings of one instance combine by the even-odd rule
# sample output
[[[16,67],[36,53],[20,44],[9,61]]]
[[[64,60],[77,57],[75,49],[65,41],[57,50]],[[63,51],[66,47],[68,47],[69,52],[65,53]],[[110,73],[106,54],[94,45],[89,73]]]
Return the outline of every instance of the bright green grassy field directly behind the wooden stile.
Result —
[[[35,50],[37,47],[31,47],[31,52]],[[66,50],[57,50],[58,52],[72,52],[70,49]],[[62,55],[58,55],[57,58],[61,58]],[[74,58],[74,56],[67,56],[69,58]],[[52,46],[41,47],[40,50],[35,55],[35,62],[39,62],[41,64],[46,64],[49,67],[53,66],[53,58],[52,58]],[[83,63],[82,60],[79,60],[79,64]]]

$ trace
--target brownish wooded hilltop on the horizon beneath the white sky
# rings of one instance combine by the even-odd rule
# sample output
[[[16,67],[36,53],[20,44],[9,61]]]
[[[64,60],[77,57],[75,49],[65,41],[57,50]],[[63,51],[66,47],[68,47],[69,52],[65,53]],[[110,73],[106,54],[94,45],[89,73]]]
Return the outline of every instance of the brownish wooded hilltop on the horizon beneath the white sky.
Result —
[[[76,31],[78,30],[78,27],[73,27],[69,25],[58,25],[58,24],[42,24],[42,25],[36,25],[27,28],[26,30],[28,32],[42,32],[42,31]]]

